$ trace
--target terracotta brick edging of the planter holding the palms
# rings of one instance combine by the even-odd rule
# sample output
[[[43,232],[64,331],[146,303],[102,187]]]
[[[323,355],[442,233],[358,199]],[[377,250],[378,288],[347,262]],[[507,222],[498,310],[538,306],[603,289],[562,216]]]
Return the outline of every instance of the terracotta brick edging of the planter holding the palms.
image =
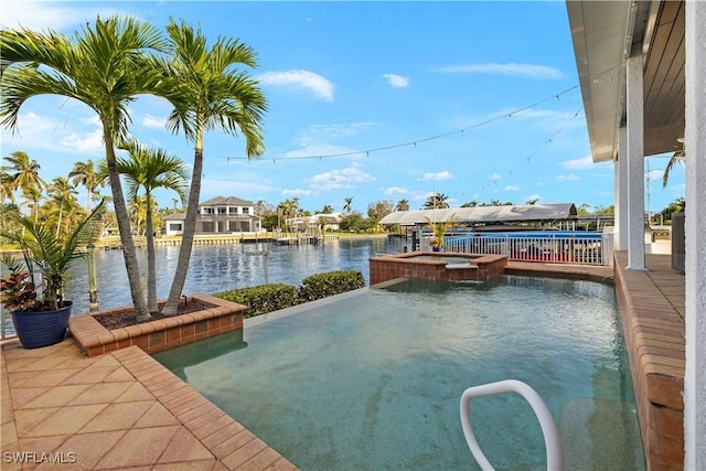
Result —
[[[204,293],[189,298],[191,302],[201,302],[204,309],[114,330],[107,330],[95,319],[97,314],[126,309],[118,308],[72,317],[68,330],[79,349],[86,355],[95,356],[131,345],[137,345],[147,353],[157,353],[243,329],[243,311],[247,309],[246,306]]]

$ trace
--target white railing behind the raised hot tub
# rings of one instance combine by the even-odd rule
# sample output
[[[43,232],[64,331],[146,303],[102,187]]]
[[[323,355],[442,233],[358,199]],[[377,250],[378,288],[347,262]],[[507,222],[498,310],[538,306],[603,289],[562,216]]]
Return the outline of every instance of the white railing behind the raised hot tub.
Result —
[[[447,251],[506,255],[513,261],[609,265],[612,244],[608,244],[606,237],[600,233],[543,233],[537,236],[475,233],[447,235],[445,247]]]

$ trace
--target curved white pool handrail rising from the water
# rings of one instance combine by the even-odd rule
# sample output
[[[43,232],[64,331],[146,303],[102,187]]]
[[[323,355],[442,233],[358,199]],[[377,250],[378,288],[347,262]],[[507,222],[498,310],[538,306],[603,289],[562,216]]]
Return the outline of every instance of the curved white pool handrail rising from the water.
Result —
[[[493,465],[488,461],[481,447],[475,440],[473,428],[471,427],[470,405],[473,397],[490,396],[494,394],[517,393],[525,398],[532,406],[534,414],[539,419],[542,433],[544,435],[544,445],[547,450],[547,470],[564,470],[564,452],[561,451],[561,441],[559,431],[552,416],[552,411],[542,400],[542,397],[527,384],[517,379],[505,379],[496,383],[483,384],[481,386],[469,387],[461,395],[461,427],[466,436],[466,442],[473,453],[473,458],[484,471],[494,470]]]

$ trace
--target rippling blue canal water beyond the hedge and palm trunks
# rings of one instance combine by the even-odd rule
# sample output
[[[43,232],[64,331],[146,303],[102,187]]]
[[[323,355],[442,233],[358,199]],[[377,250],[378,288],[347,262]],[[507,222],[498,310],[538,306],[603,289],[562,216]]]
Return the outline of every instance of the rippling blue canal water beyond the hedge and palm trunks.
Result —
[[[274,244],[195,245],[189,265],[183,292],[208,295],[235,288],[265,283],[265,256],[253,255],[267,250],[269,282],[298,286],[306,277],[334,270],[360,270],[370,282],[368,258],[376,254],[394,254],[403,249],[400,239],[342,238],[324,245],[278,246]],[[157,247],[157,296],[169,296],[178,246]],[[138,249],[142,286],[147,290],[147,251]],[[131,304],[130,289],[122,250],[96,250],[98,307],[100,310]],[[66,299],[74,301],[72,313],[88,311],[88,268],[78,260],[72,267],[66,285]]]

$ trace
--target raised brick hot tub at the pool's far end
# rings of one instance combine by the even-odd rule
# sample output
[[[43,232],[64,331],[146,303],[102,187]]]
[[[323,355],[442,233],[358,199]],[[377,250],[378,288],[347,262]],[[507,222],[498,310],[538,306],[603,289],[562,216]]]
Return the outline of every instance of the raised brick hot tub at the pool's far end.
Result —
[[[410,251],[371,258],[371,285],[395,278],[485,281],[503,274],[506,255]]]

